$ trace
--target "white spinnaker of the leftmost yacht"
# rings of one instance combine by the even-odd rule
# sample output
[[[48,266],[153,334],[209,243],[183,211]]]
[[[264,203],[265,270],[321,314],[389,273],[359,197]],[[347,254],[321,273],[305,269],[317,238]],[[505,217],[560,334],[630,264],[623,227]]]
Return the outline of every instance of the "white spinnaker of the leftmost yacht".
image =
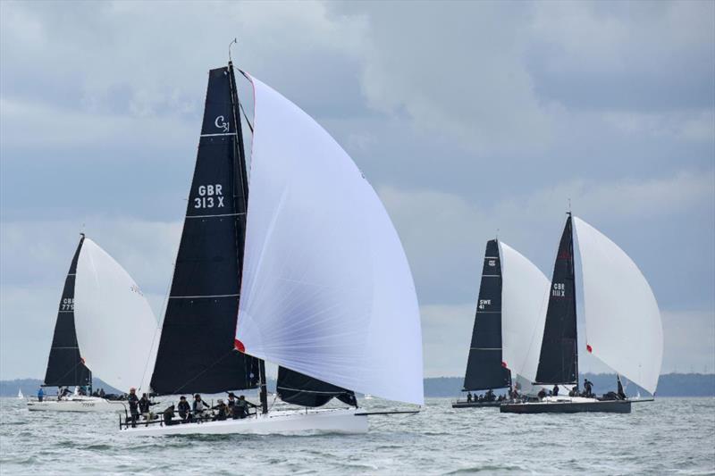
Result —
[[[74,325],[80,355],[94,375],[124,392],[149,391],[156,317],[129,273],[89,238],[77,262]]]

